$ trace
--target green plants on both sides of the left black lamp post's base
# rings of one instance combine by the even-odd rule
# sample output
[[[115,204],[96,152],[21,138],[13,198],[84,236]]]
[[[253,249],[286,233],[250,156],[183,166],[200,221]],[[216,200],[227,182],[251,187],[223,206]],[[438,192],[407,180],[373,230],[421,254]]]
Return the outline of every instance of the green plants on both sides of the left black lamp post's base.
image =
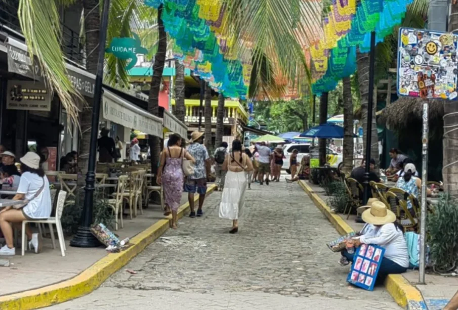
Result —
[[[67,200],[62,212],[62,229],[66,235],[74,235],[81,224],[82,205],[74,200]],[[94,197],[93,224],[102,223],[108,228],[114,227],[113,209],[108,204],[107,198],[96,191]]]

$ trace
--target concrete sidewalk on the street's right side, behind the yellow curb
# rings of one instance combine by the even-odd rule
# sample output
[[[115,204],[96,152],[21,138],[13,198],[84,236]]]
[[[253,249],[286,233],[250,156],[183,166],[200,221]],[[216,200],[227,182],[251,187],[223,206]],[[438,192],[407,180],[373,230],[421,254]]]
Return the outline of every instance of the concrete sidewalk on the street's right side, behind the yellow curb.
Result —
[[[318,185],[307,183],[314,194],[317,194],[324,202],[329,198],[326,196],[324,189]],[[354,231],[360,231],[363,224],[355,222],[355,215],[347,216],[343,214],[339,215],[344,222],[350,226]],[[457,277],[445,277],[438,274],[426,274],[426,284],[419,284],[419,272],[416,270],[409,270],[403,274],[404,278],[409,284],[417,288],[423,296],[424,307],[428,310],[441,310],[448,300],[458,290],[458,278]]]

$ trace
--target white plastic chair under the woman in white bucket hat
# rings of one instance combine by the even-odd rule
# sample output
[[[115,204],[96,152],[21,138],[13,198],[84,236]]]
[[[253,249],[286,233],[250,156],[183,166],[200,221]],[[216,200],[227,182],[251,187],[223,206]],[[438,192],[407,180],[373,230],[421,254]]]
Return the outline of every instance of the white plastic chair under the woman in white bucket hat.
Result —
[[[39,224],[49,224],[49,230],[51,234],[51,240],[53,241],[53,249],[56,248],[56,241],[54,240],[54,230],[53,224],[56,225],[57,229],[57,236],[59,237],[59,246],[62,256],[65,256],[65,251],[67,248],[65,247],[65,240],[64,240],[64,232],[62,231],[62,224],[60,223],[60,218],[62,217],[62,212],[64,210],[65,205],[65,197],[67,196],[67,192],[60,191],[59,195],[57,196],[57,206],[56,206],[56,216],[50,217],[47,219],[27,219],[22,222],[22,256],[24,256],[25,247],[26,247],[26,235],[25,235],[25,225],[27,223],[37,223]]]

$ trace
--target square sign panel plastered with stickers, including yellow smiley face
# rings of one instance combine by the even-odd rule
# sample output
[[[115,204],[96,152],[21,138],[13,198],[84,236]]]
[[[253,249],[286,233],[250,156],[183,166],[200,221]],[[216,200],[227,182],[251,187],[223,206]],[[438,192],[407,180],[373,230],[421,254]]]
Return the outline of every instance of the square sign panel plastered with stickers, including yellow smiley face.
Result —
[[[397,92],[399,96],[447,99],[456,92],[458,35],[400,28]]]

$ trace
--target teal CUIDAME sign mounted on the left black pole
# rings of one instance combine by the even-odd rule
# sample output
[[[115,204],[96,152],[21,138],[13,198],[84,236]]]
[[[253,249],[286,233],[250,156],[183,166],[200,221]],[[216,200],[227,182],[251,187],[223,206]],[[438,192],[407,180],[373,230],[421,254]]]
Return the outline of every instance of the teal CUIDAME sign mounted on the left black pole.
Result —
[[[137,63],[137,54],[147,54],[148,50],[141,47],[141,41],[136,33],[131,37],[115,37],[111,40],[110,46],[105,49],[106,53],[113,54],[122,60],[132,59],[126,66],[126,70],[132,69]]]

